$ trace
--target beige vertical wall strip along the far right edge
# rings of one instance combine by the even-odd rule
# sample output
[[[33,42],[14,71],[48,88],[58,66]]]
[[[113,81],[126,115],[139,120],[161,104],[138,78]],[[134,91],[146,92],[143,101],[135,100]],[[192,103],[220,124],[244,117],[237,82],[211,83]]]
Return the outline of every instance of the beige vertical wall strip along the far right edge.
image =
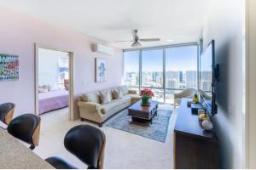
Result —
[[[247,168],[256,168],[256,1],[247,0]]]

